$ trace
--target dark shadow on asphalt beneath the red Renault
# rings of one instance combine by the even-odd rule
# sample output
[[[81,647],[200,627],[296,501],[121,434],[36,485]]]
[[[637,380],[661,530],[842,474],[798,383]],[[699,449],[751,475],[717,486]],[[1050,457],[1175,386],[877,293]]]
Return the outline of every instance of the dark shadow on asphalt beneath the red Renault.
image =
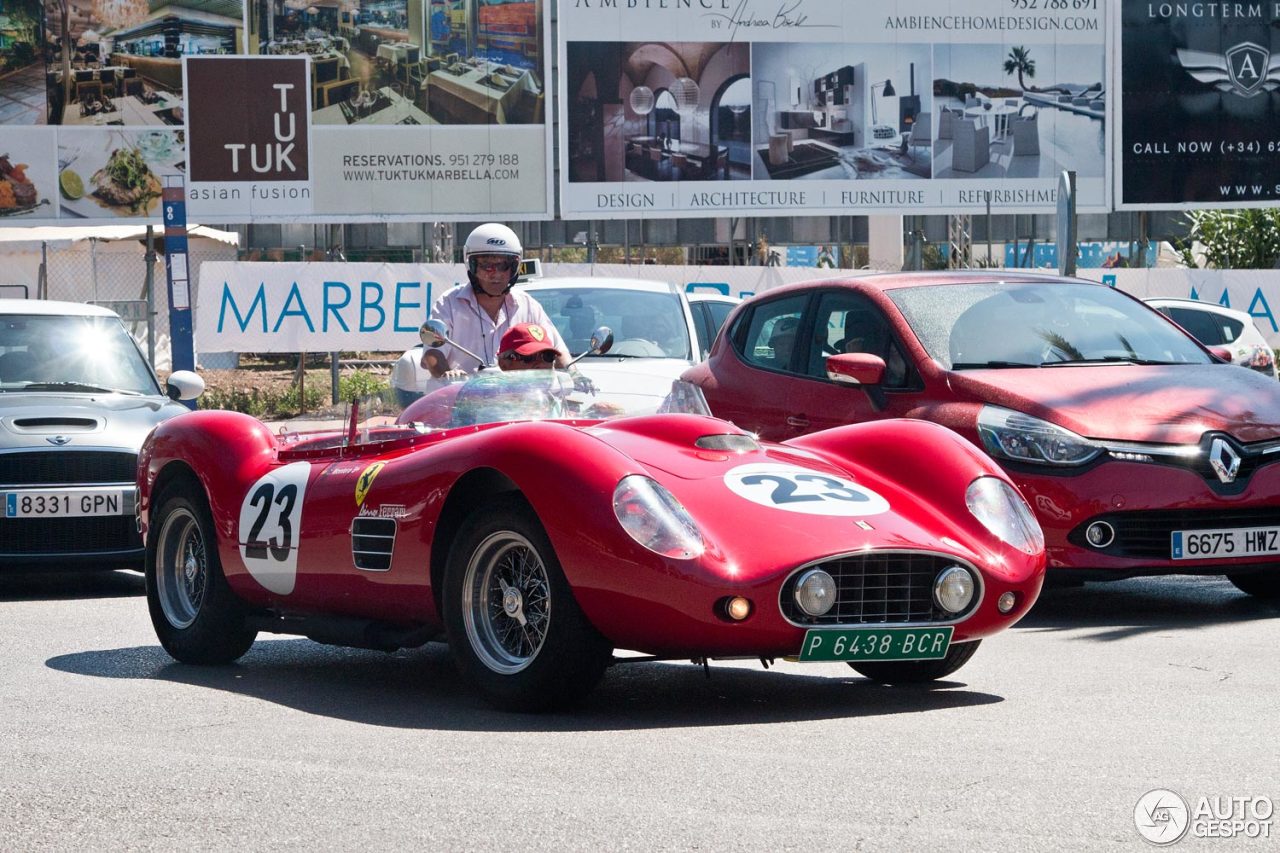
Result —
[[[1107,642],[1277,616],[1280,601],[1248,596],[1226,578],[1164,575],[1076,587],[1046,585],[1030,613],[1014,630],[1084,630],[1084,639]]]

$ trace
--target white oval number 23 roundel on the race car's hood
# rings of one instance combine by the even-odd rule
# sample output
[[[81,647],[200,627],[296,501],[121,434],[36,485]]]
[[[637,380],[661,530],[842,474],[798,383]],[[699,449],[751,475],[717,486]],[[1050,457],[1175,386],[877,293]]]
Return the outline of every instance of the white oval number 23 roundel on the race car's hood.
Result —
[[[724,485],[751,503],[803,512],[860,517],[888,512],[888,501],[835,474],[795,465],[754,462],[724,475]]]

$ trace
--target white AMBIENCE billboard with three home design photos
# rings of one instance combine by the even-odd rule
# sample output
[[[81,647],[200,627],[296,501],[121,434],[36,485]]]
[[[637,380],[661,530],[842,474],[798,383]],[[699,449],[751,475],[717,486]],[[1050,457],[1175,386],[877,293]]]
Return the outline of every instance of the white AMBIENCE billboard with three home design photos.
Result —
[[[1110,204],[1105,0],[562,0],[564,218]]]

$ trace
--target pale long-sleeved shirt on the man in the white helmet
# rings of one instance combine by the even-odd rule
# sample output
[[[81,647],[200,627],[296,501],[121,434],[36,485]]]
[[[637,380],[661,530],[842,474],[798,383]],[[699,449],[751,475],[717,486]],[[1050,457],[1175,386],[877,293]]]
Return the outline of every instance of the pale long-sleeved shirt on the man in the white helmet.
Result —
[[[559,329],[552,323],[543,306],[532,296],[518,289],[507,291],[507,297],[502,301],[502,307],[498,309],[498,319],[494,320],[476,302],[471,284],[458,284],[435,301],[435,305],[431,306],[431,319],[448,323],[449,337],[484,359],[484,364],[488,365],[498,364],[498,345],[502,336],[507,329],[521,323],[536,323],[543,327],[550,336],[552,346],[563,355],[568,353],[564,338],[561,337]],[[480,368],[475,359],[461,352],[457,347],[444,345],[440,347],[440,352],[448,359],[451,370],[475,373]]]

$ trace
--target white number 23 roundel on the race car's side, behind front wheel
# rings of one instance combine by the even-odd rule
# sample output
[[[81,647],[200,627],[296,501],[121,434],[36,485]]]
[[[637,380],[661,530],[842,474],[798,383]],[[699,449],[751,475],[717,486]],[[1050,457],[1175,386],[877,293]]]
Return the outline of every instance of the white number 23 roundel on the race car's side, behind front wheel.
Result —
[[[239,548],[253,580],[278,596],[298,576],[298,530],[310,462],[278,467],[250,487],[241,503]]]

